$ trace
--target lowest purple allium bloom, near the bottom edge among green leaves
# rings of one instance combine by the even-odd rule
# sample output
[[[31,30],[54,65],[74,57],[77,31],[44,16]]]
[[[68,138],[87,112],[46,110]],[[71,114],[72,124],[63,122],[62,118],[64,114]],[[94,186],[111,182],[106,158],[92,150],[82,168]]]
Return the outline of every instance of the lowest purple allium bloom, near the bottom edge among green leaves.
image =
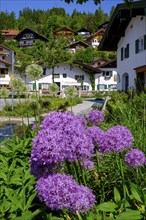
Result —
[[[37,181],[36,190],[42,202],[52,210],[69,209],[86,212],[93,208],[95,196],[91,189],[78,185],[72,176],[54,174]]]

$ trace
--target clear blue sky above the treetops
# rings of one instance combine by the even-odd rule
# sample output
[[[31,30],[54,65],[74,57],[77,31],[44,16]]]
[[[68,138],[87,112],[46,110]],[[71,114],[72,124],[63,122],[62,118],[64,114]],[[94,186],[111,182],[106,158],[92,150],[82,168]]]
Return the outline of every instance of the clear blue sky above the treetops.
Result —
[[[75,0],[74,0],[75,1]],[[92,12],[94,13],[96,9],[101,6],[105,13],[110,12],[112,6],[116,6],[118,3],[123,3],[124,0],[104,0],[101,4],[96,6],[93,0],[88,0],[88,2],[82,5],[76,3],[65,3],[64,0],[0,0],[0,11],[12,12],[14,11],[16,17],[19,15],[19,11],[26,7],[31,9],[41,9],[48,10],[53,7],[64,8],[66,13],[72,14],[73,10],[76,9],[79,12]]]

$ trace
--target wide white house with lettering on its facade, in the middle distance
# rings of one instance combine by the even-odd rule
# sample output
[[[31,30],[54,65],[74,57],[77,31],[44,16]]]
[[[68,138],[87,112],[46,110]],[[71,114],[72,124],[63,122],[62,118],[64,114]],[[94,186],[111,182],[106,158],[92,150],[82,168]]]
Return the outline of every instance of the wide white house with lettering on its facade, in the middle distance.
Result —
[[[36,82],[37,88],[35,88],[34,81],[26,79],[30,91],[46,90],[53,81],[59,86],[60,91],[67,86],[76,86],[87,91],[92,90],[90,75],[76,65],[58,64],[54,70],[44,69],[43,76]]]

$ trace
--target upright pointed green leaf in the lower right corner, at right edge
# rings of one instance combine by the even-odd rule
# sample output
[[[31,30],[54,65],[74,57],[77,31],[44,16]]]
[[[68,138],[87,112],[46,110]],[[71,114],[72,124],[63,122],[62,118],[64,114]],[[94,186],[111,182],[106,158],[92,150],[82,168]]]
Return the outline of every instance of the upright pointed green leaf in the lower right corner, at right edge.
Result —
[[[136,199],[137,201],[141,203],[144,202],[144,194],[137,185],[135,185],[134,183],[130,183],[130,190],[131,190],[131,193],[134,199]]]

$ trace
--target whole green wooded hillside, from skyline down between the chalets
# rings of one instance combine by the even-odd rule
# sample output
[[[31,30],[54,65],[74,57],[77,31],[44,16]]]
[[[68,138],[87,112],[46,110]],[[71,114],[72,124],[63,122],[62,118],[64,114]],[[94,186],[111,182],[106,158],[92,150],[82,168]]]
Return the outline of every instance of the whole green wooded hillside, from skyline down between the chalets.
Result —
[[[95,6],[96,7],[96,6]],[[99,8],[95,13],[81,13],[74,10],[73,13],[67,14],[63,8],[52,8],[51,10],[32,10],[25,8],[19,12],[16,19],[14,12],[0,13],[0,29],[15,29],[22,31],[24,28],[30,28],[49,39],[49,42],[43,43],[36,41],[32,48],[18,48],[16,41],[5,41],[2,35],[0,43],[10,47],[15,51],[16,62],[15,71],[24,74],[25,68],[30,63],[38,63],[44,67],[53,68],[58,63],[73,63],[74,60],[80,60],[84,63],[91,63],[96,57],[106,57],[108,59],[115,58],[114,53],[106,53],[89,47],[81,49],[76,54],[71,54],[64,49],[68,45],[68,41],[60,38],[59,41],[54,39],[54,31],[58,28],[69,27],[74,31],[80,28],[87,28],[92,33],[97,32],[98,26],[109,21],[114,8],[111,8],[110,15],[104,13]]]

